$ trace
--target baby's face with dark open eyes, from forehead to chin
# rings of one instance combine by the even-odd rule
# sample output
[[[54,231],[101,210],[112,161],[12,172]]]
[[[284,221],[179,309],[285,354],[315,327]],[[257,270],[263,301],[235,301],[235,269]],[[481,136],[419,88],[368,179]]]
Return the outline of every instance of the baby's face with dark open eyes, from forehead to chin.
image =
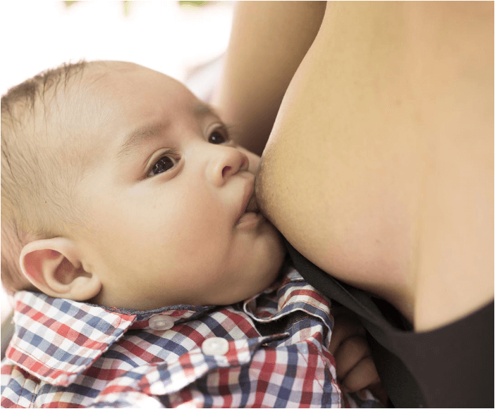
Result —
[[[106,120],[87,118],[94,165],[79,191],[94,234],[78,244],[102,280],[97,302],[227,304],[268,287],[283,260],[279,233],[244,213],[259,157],[179,82],[111,64],[85,91]]]

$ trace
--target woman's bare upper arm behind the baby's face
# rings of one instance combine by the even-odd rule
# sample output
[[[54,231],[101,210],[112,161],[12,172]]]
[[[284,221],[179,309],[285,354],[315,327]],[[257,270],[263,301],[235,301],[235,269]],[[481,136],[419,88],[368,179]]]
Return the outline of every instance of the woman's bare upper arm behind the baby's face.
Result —
[[[289,82],[322,23],[325,1],[239,1],[213,105],[233,138],[261,155]]]

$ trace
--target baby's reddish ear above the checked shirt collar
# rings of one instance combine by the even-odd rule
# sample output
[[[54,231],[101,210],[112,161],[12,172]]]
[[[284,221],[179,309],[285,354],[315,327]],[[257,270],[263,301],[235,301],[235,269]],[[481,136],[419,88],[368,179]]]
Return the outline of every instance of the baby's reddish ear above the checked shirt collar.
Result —
[[[86,301],[102,289],[99,277],[82,268],[77,246],[63,237],[26,244],[20,252],[20,269],[39,291],[51,297]]]

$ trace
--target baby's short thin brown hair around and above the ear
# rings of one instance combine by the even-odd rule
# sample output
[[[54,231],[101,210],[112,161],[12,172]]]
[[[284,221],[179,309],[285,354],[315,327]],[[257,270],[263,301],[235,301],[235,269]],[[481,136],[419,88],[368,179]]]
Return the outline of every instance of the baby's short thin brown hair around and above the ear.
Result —
[[[34,290],[20,271],[23,246],[58,236],[75,218],[78,166],[63,163],[61,151],[50,149],[54,128],[48,122],[56,94],[70,92],[86,65],[46,70],[1,97],[1,281],[9,292]]]

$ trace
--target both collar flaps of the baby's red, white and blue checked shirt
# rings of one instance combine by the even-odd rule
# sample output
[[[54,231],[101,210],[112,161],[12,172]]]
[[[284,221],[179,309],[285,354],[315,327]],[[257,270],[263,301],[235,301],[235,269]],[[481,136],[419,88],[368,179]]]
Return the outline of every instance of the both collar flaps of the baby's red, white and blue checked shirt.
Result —
[[[304,310],[331,328],[328,301],[293,268],[283,269],[281,280],[244,301],[244,312],[260,323],[275,322],[295,310]],[[218,306],[167,306],[139,311],[106,308],[46,294],[19,291],[14,296],[16,329],[6,358],[49,384],[67,386],[94,363],[128,329],[146,329],[150,318],[185,322]]]

